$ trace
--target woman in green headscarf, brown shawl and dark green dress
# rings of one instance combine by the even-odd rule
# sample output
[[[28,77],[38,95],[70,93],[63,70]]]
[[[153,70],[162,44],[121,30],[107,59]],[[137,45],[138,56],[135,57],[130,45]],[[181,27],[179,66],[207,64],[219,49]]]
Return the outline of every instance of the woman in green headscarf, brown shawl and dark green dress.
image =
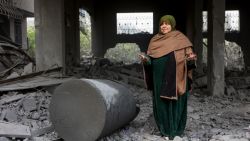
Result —
[[[191,70],[187,70],[186,64],[187,60],[196,59],[192,43],[184,34],[175,30],[175,25],[173,16],[163,16],[159,33],[150,40],[147,55],[140,55],[144,69],[152,70],[156,124],[161,134],[170,139],[181,136],[186,126],[187,96],[190,90],[187,81],[188,78],[191,80]]]

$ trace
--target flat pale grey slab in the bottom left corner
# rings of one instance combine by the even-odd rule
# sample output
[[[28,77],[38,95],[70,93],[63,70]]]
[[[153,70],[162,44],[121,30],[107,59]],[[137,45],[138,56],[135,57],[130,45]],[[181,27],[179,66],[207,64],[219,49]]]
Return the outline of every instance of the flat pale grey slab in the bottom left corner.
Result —
[[[31,132],[29,126],[17,123],[0,121],[1,137],[30,138]]]

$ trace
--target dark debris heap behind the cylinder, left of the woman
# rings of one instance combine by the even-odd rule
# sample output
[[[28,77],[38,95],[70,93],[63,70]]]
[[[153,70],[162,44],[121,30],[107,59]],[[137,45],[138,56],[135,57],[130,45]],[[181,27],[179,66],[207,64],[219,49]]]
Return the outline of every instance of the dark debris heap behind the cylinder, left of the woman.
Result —
[[[122,62],[112,63],[106,58],[85,58],[80,68],[74,68],[72,75],[83,78],[102,78],[122,81],[126,84],[145,87],[142,65],[138,63],[125,65]]]

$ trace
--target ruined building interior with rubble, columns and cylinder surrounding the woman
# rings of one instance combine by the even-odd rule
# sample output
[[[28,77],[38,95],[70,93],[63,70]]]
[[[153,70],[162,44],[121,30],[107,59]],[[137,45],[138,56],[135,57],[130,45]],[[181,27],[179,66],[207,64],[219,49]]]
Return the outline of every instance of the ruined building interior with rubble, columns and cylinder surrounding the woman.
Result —
[[[197,54],[186,130],[174,141],[249,141],[246,3],[0,0],[0,141],[164,141],[137,55],[166,14]]]

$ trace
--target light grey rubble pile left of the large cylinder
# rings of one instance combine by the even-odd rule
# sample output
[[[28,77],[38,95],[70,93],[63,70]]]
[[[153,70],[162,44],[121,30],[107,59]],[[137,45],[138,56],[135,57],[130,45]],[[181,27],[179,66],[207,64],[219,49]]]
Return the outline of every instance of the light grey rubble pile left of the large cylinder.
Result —
[[[49,120],[51,94],[9,92],[0,97],[0,140],[55,140]]]

